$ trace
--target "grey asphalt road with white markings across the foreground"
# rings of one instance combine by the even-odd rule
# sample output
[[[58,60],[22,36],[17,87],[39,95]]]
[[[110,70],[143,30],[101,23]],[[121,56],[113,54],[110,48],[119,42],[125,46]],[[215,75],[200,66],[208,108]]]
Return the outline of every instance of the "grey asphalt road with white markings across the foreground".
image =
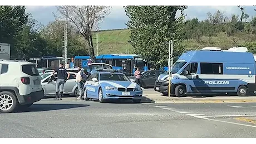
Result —
[[[256,141],[256,125],[236,119],[256,116],[255,110],[256,103],[100,104],[75,97],[49,98],[0,114],[0,140]]]

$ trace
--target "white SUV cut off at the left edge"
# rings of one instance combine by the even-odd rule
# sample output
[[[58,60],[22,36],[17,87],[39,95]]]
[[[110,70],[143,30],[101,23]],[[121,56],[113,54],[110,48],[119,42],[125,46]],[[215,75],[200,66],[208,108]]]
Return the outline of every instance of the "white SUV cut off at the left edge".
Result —
[[[29,107],[43,97],[35,63],[0,59],[0,112]]]

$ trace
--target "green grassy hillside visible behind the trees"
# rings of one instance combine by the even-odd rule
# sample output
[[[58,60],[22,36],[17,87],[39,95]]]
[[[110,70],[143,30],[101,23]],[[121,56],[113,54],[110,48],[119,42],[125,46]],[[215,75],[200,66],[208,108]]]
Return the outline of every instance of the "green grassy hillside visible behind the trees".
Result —
[[[99,32],[99,54],[133,53],[132,46],[128,43],[129,39],[130,30],[128,29],[102,30]],[[228,37],[225,32],[221,32],[215,37],[202,36],[197,40],[185,39],[183,40],[183,45],[187,50],[204,47],[228,49],[237,47],[246,41],[241,35]],[[97,54],[97,37],[95,33],[93,34],[93,43],[95,44],[95,54]]]

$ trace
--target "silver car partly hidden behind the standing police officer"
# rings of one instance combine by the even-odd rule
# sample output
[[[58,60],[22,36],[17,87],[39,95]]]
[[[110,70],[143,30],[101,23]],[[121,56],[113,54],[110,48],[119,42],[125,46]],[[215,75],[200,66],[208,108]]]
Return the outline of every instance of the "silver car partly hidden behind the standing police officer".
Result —
[[[70,78],[67,80],[67,83],[64,84],[64,91],[63,94],[75,94],[75,96],[79,95],[79,91],[77,89],[76,83],[76,73],[70,73]],[[47,76],[44,76],[47,75]],[[57,73],[55,73],[55,77],[57,79]],[[55,88],[56,88],[56,79],[53,78],[53,74],[43,74],[41,75],[41,84],[43,87],[43,91],[45,92],[45,96],[52,96],[55,95]]]

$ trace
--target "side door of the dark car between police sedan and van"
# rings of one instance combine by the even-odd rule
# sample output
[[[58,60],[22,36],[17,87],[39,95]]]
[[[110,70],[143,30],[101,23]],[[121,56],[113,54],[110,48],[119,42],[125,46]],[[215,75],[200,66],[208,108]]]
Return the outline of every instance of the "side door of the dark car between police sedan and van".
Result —
[[[156,76],[156,71],[152,70],[147,72],[145,75],[142,76],[141,80],[142,83],[146,86],[146,87],[154,87],[155,85],[155,81],[157,79]]]

